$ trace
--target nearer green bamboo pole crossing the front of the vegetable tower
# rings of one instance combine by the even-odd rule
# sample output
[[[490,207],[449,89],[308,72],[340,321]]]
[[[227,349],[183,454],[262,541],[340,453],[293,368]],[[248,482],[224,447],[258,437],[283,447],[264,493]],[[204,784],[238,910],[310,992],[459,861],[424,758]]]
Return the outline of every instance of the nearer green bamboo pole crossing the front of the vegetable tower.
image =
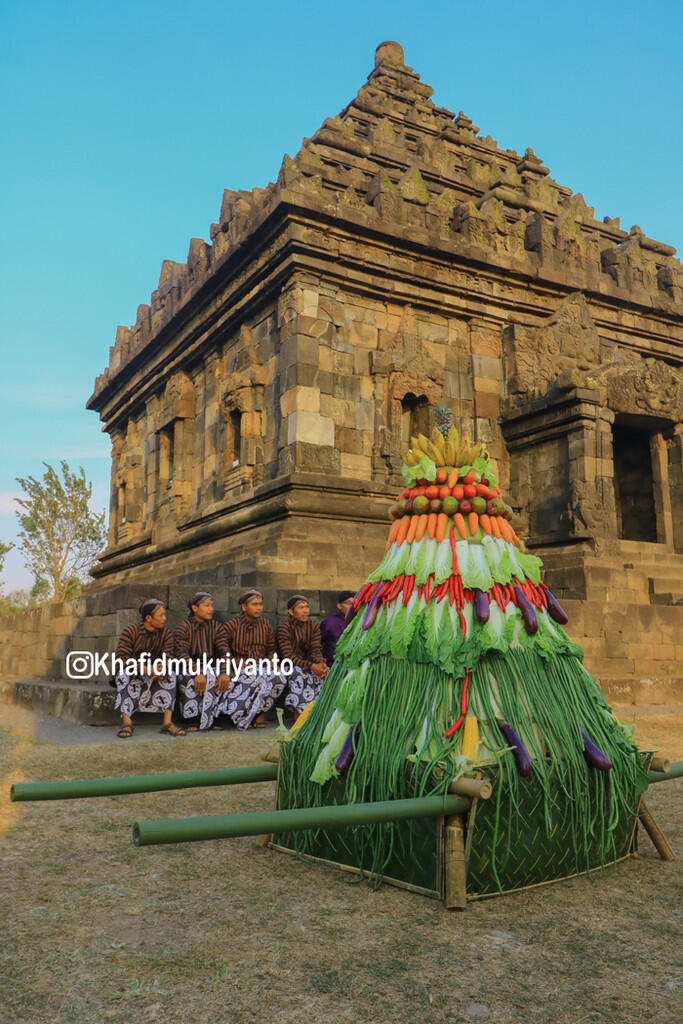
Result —
[[[306,828],[348,828],[379,821],[461,814],[469,806],[469,800],[457,796],[416,797],[372,804],[336,804],[284,811],[255,811],[250,814],[136,821],[133,825],[133,843],[135,846],[156,846],[161,843],[197,843],[207,839],[232,839],[238,836],[261,836],[264,833],[280,834]]]

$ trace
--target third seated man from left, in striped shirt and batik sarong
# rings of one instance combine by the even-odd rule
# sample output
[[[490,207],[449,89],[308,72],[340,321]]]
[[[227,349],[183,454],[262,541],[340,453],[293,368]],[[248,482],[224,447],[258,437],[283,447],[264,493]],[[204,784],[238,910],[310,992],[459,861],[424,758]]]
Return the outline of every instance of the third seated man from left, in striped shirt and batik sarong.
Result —
[[[246,591],[240,598],[240,607],[242,614],[225,624],[233,669],[236,663],[243,663],[243,668],[232,677],[225,714],[238,729],[248,729],[250,725],[263,729],[264,715],[285,689],[287,677],[272,668],[275,631],[272,624],[263,618],[261,592]],[[250,659],[255,665],[247,666]],[[253,668],[257,671],[252,672]]]

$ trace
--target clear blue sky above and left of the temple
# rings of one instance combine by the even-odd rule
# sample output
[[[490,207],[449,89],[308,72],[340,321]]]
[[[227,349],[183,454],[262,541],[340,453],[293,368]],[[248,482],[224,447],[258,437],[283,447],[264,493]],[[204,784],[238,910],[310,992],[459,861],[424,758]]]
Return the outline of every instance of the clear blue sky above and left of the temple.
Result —
[[[582,191],[596,216],[683,245],[683,8],[666,2],[44,2],[0,17],[0,540],[15,476],[83,465],[85,411],[118,324],[163,259],[208,240],[223,188],[263,186],[395,39],[483,134]],[[18,553],[5,590],[31,578]]]

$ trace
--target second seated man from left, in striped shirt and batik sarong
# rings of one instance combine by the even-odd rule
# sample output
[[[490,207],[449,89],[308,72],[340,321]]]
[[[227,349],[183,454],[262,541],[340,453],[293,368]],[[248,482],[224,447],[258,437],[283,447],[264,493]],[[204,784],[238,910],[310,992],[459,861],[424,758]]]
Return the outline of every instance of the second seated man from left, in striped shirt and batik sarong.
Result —
[[[226,673],[228,654],[225,627],[213,617],[211,594],[200,590],[187,602],[189,615],[173,630],[174,654],[191,663],[191,675],[178,675],[178,710],[190,720],[190,732],[200,729],[220,729],[216,718],[225,711],[230,679]],[[213,663],[204,671],[203,660]],[[222,665],[220,664],[222,662]],[[195,663],[197,663],[195,665]]]

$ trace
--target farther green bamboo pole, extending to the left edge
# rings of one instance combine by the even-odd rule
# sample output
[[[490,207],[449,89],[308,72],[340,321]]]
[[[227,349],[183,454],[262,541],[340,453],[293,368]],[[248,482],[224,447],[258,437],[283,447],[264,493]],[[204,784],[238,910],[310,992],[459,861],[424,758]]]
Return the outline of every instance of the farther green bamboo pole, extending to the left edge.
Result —
[[[10,800],[80,800],[86,797],[118,797],[129,793],[191,790],[204,785],[237,785],[241,782],[273,782],[276,765],[217,768],[215,771],[178,771],[165,775],[129,775],[121,778],[75,778],[67,782],[14,782]]]

